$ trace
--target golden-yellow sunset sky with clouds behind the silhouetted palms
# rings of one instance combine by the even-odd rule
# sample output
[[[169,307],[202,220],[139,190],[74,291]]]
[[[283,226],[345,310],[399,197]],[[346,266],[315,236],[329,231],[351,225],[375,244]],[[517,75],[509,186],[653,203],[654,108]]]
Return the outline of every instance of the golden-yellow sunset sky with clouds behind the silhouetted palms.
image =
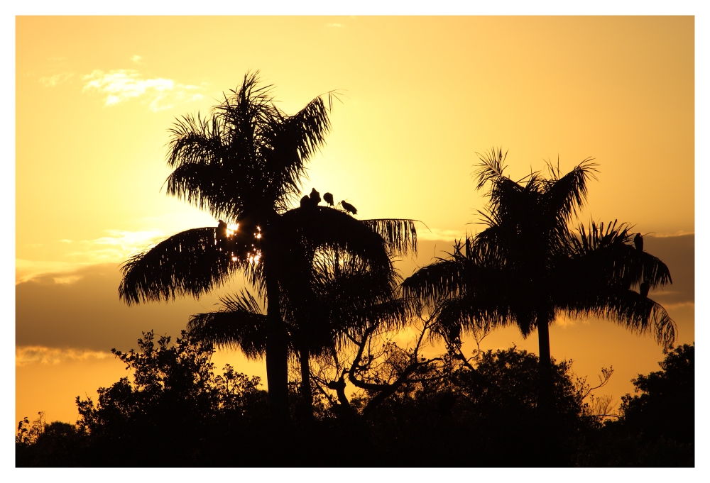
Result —
[[[405,275],[481,229],[476,152],[508,150],[515,179],[594,157],[581,221],[618,218],[657,237],[647,249],[676,283],[655,296],[692,343],[694,35],[689,16],[17,17],[16,421],[75,421],[75,396],[95,399],[124,373],[111,348],[151,329],[175,337],[212,309],[214,296],[126,307],[118,266],[216,225],[161,190],[167,130],[249,70],[287,113],[342,93],[304,191],[330,191],[359,218],[426,223]],[[515,331],[483,348],[511,343],[537,352],[536,335]],[[604,321],[559,321],[550,343],[590,380],[613,365],[616,400],[662,359],[652,339]]]

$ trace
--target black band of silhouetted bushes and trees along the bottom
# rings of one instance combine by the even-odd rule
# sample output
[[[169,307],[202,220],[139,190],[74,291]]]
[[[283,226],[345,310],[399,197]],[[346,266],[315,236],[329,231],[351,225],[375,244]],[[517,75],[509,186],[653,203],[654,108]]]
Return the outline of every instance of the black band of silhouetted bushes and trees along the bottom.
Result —
[[[316,397],[314,418],[292,421],[269,410],[258,377],[227,365],[214,374],[212,348],[182,333],[117,357],[133,371],[100,388],[97,401],[77,397],[76,425],[21,421],[16,465],[77,467],[666,467],[694,465],[694,345],[682,345],[639,375],[638,393],[621,410],[585,396],[570,362],[552,364],[559,413],[558,453],[550,461],[536,443],[541,431],[534,354],[510,348],[480,352],[476,372],[456,357],[427,367],[371,411],[368,393],[344,414]],[[397,372],[401,361],[385,359]],[[590,404],[591,402],[591,404]],[[276,443],[276,445],[274,445]]]

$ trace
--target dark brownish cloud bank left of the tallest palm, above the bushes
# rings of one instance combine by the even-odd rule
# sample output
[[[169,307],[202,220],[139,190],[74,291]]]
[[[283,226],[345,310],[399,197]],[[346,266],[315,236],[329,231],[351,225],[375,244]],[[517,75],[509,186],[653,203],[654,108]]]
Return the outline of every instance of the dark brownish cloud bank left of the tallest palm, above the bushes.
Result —
[[[72,282],[67,283],[69,279]],[[18,347],[121,351],[137,349],[141,332],[180,335],[194,313],[217,308],[218,297],[244,286],[236,275],[230,284],[202,296],[128,306],[119,299],[121,272],[116,264],[89,265],[71,272],[38,275],[15,286],[15,343]],[[28,352],[31,357],[80,357],[73,352]],[[33,355],[34,354],[34,355]],[[44,355],[43,355],[44,354]],[[86,357],[89,357],[88,355]]]

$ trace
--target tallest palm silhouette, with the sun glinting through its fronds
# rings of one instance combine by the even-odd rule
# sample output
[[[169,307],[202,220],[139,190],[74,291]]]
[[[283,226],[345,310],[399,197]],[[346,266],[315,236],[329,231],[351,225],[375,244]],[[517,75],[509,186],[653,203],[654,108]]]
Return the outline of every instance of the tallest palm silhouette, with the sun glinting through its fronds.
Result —
[[[228,233],[195,228],[173,235],[131,257],[122,267],[119,296],[128,304],[200,296],[236,271],[248,275],[267,299],[266,370],[269,399],[288,413],[288,350],[280,315],[280,284],[289,277],[304,240],[312,246],[352,250],[373,263],[389,263],[386,247],[415,248],[412,221],[361,223],[344,211],[305,206],[287,212],[300,194],[305,163],[329,132],[328,111],[317,97],[293,116],[276,108],[271,87],[246,74],[237,91],[215,106],[210,118],[184,116],[171,129],[167,191],[238,223]],[[293,273],[293,270],[291,270]]]

